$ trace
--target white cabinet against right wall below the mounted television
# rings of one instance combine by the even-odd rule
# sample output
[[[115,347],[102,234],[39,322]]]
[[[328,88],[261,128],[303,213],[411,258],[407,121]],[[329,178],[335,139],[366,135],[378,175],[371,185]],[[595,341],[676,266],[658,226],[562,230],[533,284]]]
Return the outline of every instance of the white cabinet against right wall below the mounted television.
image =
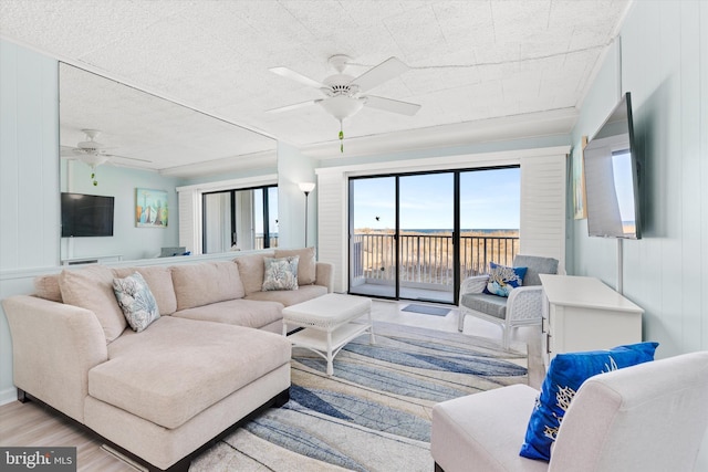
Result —
[[[541,275],[543,361],[558,353],[642,342],[644,310],[594,277]]]

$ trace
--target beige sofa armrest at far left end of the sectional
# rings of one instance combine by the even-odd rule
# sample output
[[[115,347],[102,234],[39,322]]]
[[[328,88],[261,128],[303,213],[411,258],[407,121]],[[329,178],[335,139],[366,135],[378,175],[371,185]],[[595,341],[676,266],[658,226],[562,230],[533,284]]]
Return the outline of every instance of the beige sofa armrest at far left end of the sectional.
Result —
[[[29,295],[6,298],[2,307],[12,335],[14,385],[83,423],[88,370],[108,359],[96,315]]]

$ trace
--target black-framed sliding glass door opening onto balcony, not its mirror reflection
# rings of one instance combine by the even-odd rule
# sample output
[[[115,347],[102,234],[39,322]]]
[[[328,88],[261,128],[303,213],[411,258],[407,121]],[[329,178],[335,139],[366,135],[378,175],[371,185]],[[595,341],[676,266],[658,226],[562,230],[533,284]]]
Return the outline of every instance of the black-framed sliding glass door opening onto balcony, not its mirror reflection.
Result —
[[[350,293],[456,303],[519,250],[518,167],[350,179]]]

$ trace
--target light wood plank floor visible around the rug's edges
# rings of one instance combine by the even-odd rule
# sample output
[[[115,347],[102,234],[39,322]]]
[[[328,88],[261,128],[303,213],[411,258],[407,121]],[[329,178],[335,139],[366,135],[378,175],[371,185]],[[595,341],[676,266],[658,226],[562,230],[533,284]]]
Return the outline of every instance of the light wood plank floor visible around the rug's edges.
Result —
[[[445,317],[402,312],[407,303],[374,302],[374,319],[389,323],[409,324],[440,331],[457,331],[457,312]],[[501,329],[480,319],[467,317],[465,333],[475,336],[501,338]],[[541,334],[538,327],[520,328],[516,340],[529,346],[529,384],[539,388],[544,368],[541,360]],[[101,448],[101,441],[90,431],[70,422],[38,405],[29,401],[13,401],[0,407],[0,445],[23,447],[76,447],[79,471],[86,472],[135,472],[135,468],[116,459]]]

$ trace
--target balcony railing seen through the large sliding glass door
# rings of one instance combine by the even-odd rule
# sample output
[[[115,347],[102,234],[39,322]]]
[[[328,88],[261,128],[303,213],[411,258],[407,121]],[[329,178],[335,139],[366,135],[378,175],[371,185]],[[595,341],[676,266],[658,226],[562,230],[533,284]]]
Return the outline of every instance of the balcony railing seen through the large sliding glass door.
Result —
[[[399,281],[406,285],[437,285],[452,290],[452,237],[400,234]],[[365,283],[395,281],[395,239],[392,233],[356,233],[353,240],[353,276]],[[489,262],[511,265],[519,252],[519,237],[461,235],[460,276],[487,273]]]

